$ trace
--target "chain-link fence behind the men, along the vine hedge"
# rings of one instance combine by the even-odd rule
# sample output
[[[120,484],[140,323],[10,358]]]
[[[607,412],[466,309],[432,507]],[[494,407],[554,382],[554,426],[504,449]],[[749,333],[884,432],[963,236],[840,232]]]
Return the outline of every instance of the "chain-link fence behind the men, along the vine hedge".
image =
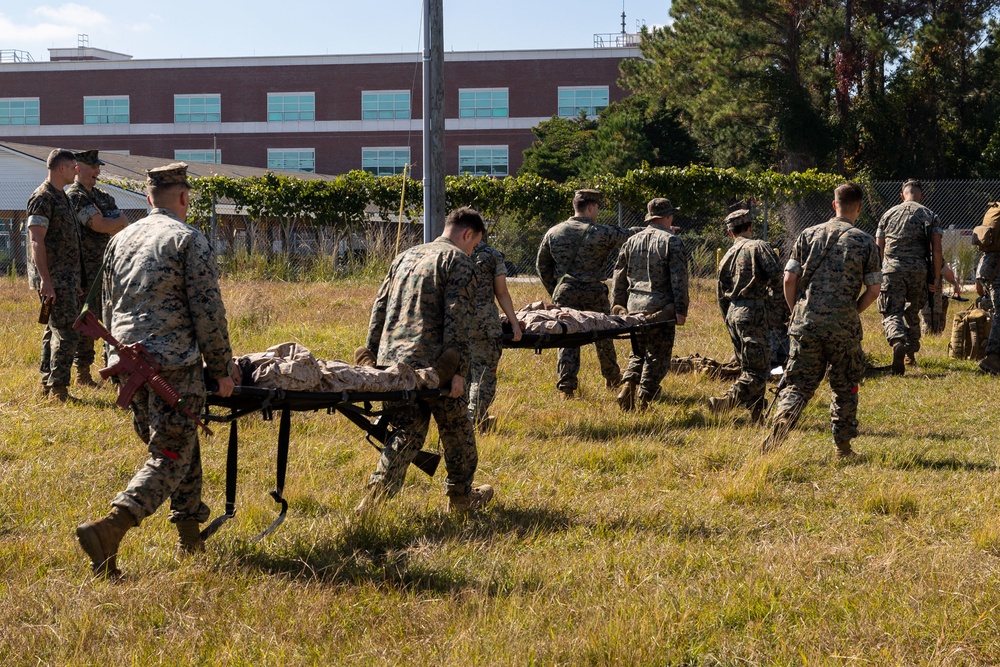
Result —
[[[23,275],[26,266],[27,230],[24,204],[30,191],[23,184],[0,183],[0,270]],[[899,203],[902,181],[879,181],[868,188],[865,210],[858,227],[874,234],[879,217]],[[1000,180],[929,181],[924,183],[924,204],[935,211],[945,228],[945,261],[963,280],[971,280],[978,253],[969,242],[972,228],[982,220],[989,202],[1000,201]],[[669,193],[666,193],[669,196]],[[755,233],[767,234],[782,256],[803,229],[828,220],[833,215],[830,195],[809,195],[779,206],[767,201],[752,202],[757,224]],[[130,220],[146,214],[145,209],[123,207]],[[721,207],[720,207],[721,208]],[[570,211],[567,211],[567,217]],[[599,222],[623,227],[644,226],[645,211],[610,203],[602,208]],[[555,222],[522,221],[501,217],[489,221],[489,241],[504,252],[512,276],[534,275],[535,255],[545,231]],[[730,245],[721,220],[675,217],[685,241],[691,272],[714,275],[719,252]],[[379,219],[374,211],[369,220],[349,228],[322,227],[303,221],[253,221],[231,207],[219,205],[216,216],[206,226],[214,240],[223,275],[231,278],[271,280],[330,280],[347,275],[381,276],[396,253],[423,241],[419,220],[402,222]],[[608,275],[614,265],[609,258]]]

